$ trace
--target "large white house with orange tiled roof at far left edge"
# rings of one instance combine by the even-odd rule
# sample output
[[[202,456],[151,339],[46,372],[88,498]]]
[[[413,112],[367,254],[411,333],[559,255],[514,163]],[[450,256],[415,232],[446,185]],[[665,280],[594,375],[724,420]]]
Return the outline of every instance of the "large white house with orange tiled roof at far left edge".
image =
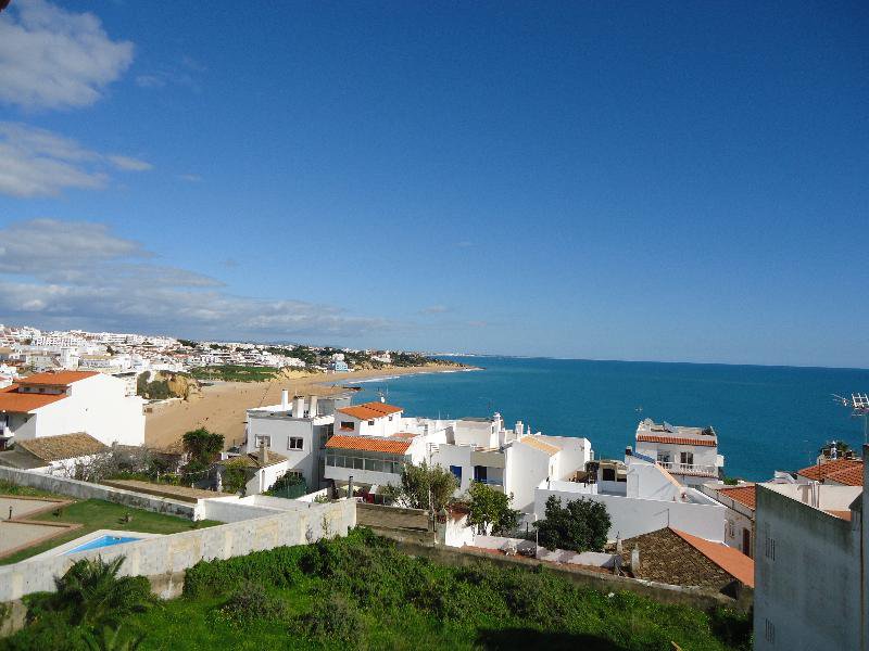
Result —
[[[142,445],[142,399],[95,371],[38,373],[0,390],[0,449],[16,441],[86,433],[104,445]]]

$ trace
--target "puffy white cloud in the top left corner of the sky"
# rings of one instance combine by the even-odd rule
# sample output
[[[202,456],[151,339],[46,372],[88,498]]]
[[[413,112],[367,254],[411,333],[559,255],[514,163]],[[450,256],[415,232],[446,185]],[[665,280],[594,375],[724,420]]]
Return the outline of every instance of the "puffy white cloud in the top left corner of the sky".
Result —
[[[15,0],[0,14],[0,101],[24,108],[89,106],[129,67],[133,49],[109,38],[91,13]]]

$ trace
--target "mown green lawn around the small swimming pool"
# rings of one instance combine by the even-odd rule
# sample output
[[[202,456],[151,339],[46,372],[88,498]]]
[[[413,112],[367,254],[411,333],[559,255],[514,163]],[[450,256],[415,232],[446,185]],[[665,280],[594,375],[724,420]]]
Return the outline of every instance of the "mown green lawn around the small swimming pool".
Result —
[[[0,494],[9,493],[5,487],[0,485]],[[25,495],[18,493],[17,495]],[[30,494],[26,494],[30,495]],[[43,496],[49,494],[42,493]],[[52,496],[63,497],[63,496]],[[66,498],[68,499],[68,498]],[[125,522],[126,514],[133,515],[131,522]],[[202,520],[197,523],[187,520],[186,518],[178,518],[177,515],[166,515],[164,513],[153,513],[151,511],[143,511],[141,509],[133,509],[123,505],[104,501],[101,499],[88,499],[77,501],[70,506],[63,507],[60,516],[54,515],[49,511],[41,515],[36,515],[33,520],[45,520],[47,522],[63,522],[68,524],[80,524],[83,526],[73,529],[62,536],[47,540],[41,545],[29,547],[17,553],[0,559],[0,565],[9,565],[17,563],[24,559],[28,559],[38,553],[42,553],[49,549],[74,540],[90,532],[97,529],[116,529],[129,532],[142,532],[147,534],[177,534],[178,532],[188,532],[193,528],[203,528],[206,526],[214,526],[221,524],[213,520]]]

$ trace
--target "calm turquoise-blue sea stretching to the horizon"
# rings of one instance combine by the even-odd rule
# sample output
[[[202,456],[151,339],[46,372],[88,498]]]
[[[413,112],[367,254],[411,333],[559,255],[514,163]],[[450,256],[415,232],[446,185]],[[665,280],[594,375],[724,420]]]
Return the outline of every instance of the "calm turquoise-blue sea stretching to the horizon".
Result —
[[[545,434],[585,436],[599,457],[624,455],[641,418],[713,425],[728,475],[764,480],[809,465],[827,441],[859,448],[862,421],[830,394],[869,392],[869,370],[633,361],[454,358],[484,370],[362,384],[354,401],[388,400],[407,416],[500,411]],[[642,407],[642,412],[638,408]]]

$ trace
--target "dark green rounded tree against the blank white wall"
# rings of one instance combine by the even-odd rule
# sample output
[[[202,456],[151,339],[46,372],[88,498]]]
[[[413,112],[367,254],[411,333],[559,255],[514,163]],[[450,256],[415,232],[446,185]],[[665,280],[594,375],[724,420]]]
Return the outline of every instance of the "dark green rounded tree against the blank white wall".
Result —
[[[606,507],[590,499],[576,499],[562,506],[552,495],[546,500],[546,518],[536,522],[540,544],[546,549],[603,551],[609,532]]]

